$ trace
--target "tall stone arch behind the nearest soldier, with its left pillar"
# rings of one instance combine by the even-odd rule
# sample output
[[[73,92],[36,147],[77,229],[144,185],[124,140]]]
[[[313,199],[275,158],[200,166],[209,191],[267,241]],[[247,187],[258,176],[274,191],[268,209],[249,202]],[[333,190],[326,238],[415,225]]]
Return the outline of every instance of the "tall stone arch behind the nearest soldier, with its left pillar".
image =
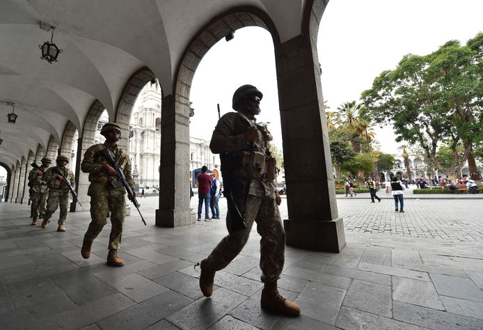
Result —
[[[268,30],[275,44],[280,38],[273,22],[258,8],[232,8],[214,17],[191,39],[177,64],[173,95],[162,99],[161,109],[161,191],[157,226],[187,226],[190,222],[189,191],[189,94],[194,73],[209,49],[225,36],[246,26]]]

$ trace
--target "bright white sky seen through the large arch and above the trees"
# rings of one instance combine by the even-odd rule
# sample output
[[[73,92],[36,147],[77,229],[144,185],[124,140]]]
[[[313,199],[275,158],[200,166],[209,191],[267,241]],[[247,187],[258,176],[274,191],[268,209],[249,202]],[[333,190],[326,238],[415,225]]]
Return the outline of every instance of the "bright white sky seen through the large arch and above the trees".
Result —
[[[359,101],[383,70],[405,54],[425,55],[448,40],[462,44],[483,31],[482,0],[331,0],[319,29],[322,93],[331,111]],[[209,140],[218,113],[231,109],[236,88],[253,84],[264,93],[258,120],[270,122],[274,144],[282,147],[274,47],[264,29],[249,27],[220,40],[201,61],[191,86],[195,116],[190,134]],[[391,127],[374,127],[383,152],[397,154]]]

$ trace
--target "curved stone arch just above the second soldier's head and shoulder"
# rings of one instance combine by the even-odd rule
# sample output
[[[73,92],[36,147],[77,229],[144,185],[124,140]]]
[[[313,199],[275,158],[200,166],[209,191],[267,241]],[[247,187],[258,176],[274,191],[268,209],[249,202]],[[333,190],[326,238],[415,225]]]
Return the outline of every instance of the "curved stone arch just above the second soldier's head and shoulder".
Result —
[[[155,78],[155,74],[149,68],[141,68],[129,77],[127,84],[122,91],[118,107],[116,108],[116,117],[114,121],[121,127],[121,136],[123,137],[118,145],[125,150],[128,150],[129,148],[129,122],[131,121],[134,102],[136,102],[136,98],[145,84],[148,84],[149,81],[152,81]]]

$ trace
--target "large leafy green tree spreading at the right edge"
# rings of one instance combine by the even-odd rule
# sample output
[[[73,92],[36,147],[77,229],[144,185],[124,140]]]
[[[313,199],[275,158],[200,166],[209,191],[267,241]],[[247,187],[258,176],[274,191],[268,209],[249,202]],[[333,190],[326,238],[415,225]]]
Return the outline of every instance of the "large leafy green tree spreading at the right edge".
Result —
[[[454,178],[482,139],[483,33],[466,46],[446,42],[427,56],[406,55],[395,70],[381,72],[362,94],[363,116],[393,125],[396,141],[425,150],[440,171]],[[436,159],[438,146],[452,150],[452,162]],[[462,157],[457,146],[463,143]]]

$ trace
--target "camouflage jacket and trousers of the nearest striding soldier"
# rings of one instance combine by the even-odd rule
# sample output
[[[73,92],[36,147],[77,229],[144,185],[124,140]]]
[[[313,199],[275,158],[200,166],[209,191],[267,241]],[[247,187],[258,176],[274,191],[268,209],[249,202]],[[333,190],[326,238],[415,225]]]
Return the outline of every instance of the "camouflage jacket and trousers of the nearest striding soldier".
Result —
[[[254,164],[260,166],[253,168],[253,176],[248,190],[248,198],[245,201],[246,168],[242,164],[246,159],[251,159],[251,143],[246,143],[244,132],[249,127],[258,129],[258,140],[253,142],[255,152]],[[219,120],[214,129],[212,141],[209,145],[212,152],[223,153],[232,164],[239,164],[232,172],[232,196],[243,213],[246,210],[246,229],[230,230],[230,212],[227,214],[226,223],[230,234],[224,237],[215,247],[205,261],[207,268],[219,271],[225,268],[235,258],[248,240],[253,221],[257,223],[257,231],[262,237],[260,240],[260,269],[262,269],[262,281],[271,283],[280,277],[285,260],[285,231],[278,205],[276,204],[276,187],[271,178],[267,178],[267,168],[264,164],[269,155],[269,141],[272,136],[264,125],[255,123],[255,118],[248,119],[242,113],[226,113]],[[223,180],[226,180],[226,171],[222,164]],[[270,175],[269,175],[270,176]]]

